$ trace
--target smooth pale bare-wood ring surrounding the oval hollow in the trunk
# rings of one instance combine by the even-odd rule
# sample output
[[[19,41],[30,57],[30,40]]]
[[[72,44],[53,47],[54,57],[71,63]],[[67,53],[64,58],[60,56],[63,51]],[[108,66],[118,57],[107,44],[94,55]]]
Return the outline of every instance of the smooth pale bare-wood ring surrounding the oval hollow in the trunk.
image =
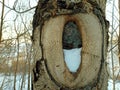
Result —
[[[64,24],[74,20],[82,34],[82,63],[76,75],[66,68],[62,50]],[[42,30],[44,57],[48,69],[56,81],[65,86],[82,87],[94,81],[101,63],[102,29],[99,20],[92,13],[64,15],[50,18]]]

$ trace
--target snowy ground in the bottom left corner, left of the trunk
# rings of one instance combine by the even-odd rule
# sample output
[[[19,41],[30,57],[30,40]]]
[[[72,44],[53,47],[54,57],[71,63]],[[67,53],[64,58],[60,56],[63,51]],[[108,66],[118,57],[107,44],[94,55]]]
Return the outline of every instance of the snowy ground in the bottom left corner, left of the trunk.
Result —
[[[1,88],[3,81],[4,81],[4,84]],[[16,90],[21,90],[21,82],[22,82],[22,75],[17,75]],[[14,86],[14,76],[13,75],[7,76],[4,74],[0,74],[0,90],[13,90],[13,86]],[[25,77],[24,77],[22,90],[28,90],[28,75],[25,75]]]

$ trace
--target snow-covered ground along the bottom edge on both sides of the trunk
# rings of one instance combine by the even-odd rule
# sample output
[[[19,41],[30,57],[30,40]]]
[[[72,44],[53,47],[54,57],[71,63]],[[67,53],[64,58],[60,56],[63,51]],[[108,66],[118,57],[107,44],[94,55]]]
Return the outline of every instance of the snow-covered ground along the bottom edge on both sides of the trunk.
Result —
[[[2,84],[3,79],[5,78],[4,86],[0,90],[13,90],[13,80],[14,76],[4,76],[3,74],[0,74],[0,86]],[[108,90],[113,90],[113,81],[111,79],[108,80]],[[25,76],[25,82],[23,85],[22,90],[28,90],[28,75]],[[120,81],[116,81],[116,89],[120,90]],[[16,82],[16,90],[20,90],[21,87],[21,75],[17,76],[17,82]]]

